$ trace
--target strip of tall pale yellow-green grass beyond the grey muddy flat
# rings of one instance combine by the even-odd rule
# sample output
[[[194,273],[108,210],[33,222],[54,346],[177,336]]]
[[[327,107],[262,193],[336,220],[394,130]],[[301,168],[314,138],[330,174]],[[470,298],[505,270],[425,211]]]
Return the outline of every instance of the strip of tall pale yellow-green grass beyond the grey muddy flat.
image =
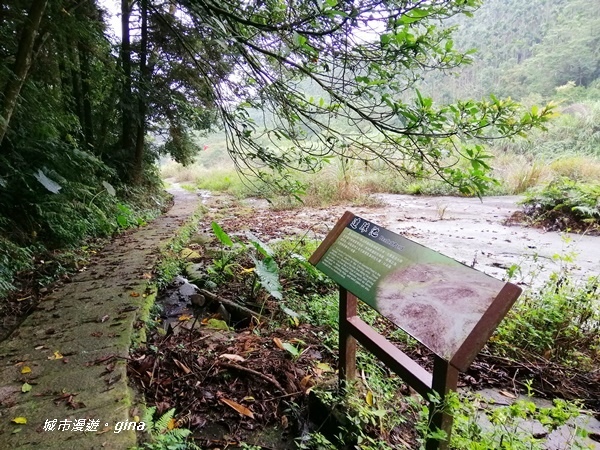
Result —
[[[488,195],[522,194],[561,177],[582,183],[600,180],[600,159],[587,156],[561,156],[537,158],[532,155],[494,149],[492,184]],[[293,195],[273,192],[260,180],[246,180],[233,165],[221,164],[207,168],[200,163],[183,167],[173,162],[162,167],[163,177],[174,178],[179,183],[194,184],[198,189],[226,192],[237,198],[267,197],[275,207],[288,208],[299,205]],[[440,178],[418,179],[393,173],[385,168],[365,166],[360,162],[334,160],[317,174],[298,173],[295,180],[304,186],[301,198],[307,206],[333,204],[369,205],[374,200],[370,194],[393,193],[410,195],[461,195],[453,186]]]

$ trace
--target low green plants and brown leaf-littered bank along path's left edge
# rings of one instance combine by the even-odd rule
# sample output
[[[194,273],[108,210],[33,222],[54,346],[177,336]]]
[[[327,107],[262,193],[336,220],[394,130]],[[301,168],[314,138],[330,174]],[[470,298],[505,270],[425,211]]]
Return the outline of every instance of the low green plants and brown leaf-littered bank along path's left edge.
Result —
[[[0,228],[3,224],[11,228],[9,233],[0,231],[0,317],[4,318],[0,339],[35,309],[53,283],[69,282],[86,270],[108,239],[145,226],[170,203],[160,184],[136,189],[101,182],[91,173],[82,178],[76,182],[56,177],[61,183],[58,193],[29,180],[30,191],[22,192],[12,205],[2,204],[6,197],[0,195],[0,209],[11,211],[0,212]],[[9,196],[19,195],[7,191]],[[27,226],[15,227],[15,223]]]

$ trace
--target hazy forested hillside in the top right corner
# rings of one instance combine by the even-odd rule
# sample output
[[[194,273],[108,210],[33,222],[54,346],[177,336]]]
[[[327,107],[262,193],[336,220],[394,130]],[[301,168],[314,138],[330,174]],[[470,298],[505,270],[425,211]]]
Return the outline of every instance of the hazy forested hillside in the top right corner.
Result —
[[[439,100],[487,96],[552,98],[575,83],[598,88],[600,2],[485,0],[473,17],[457,17],[455,44],[477,49],[459,72],[426,78]]]

